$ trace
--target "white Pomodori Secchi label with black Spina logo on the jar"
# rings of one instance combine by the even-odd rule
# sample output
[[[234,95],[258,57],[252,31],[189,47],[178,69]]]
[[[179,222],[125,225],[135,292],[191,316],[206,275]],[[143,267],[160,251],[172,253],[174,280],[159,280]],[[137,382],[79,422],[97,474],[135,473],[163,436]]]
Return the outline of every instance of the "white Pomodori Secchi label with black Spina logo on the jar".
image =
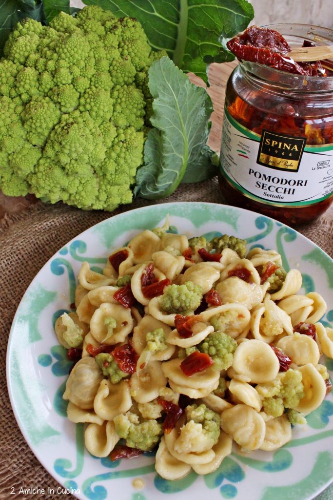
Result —
[[[256,201],[277,206],[318,203],[333,192],[333,144],[243,127],[225,109],[220,168],[226,180]]]

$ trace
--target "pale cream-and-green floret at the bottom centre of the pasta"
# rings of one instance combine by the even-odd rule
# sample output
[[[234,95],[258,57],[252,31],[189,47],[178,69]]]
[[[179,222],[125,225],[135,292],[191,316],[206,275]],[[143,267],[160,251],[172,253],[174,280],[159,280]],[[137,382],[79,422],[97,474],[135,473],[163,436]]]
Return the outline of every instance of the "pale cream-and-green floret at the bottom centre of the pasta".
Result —
[[[187,422],[180,428],[175,450],[202,453],[211,449],[220,436],[220,415],[203,403],[186,406],[185,414]]]

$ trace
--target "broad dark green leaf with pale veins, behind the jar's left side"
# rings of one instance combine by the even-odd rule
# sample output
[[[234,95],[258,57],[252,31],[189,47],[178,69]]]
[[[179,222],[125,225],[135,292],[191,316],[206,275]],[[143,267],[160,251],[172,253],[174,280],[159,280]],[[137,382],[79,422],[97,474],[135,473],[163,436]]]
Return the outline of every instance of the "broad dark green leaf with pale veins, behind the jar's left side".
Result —
[[[243,31],[254,16],[246,0],[83,0],[118,16],[136,17],[150,45],[175,64],[207,80],[207,63],[234,59],[219,42]]]

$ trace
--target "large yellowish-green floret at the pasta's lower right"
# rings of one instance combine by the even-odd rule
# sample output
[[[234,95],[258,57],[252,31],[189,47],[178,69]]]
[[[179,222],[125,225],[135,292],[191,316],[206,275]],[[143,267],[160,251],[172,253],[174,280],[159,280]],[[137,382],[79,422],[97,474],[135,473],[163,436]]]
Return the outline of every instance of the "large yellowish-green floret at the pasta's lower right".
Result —
[[[271,382],[258,384],[257,391],[263,396],[263,407],[266,413],[280,416],[284,408],[298,406],[304,397],[304,385],[302,373],[299,370],[289,368]]]

